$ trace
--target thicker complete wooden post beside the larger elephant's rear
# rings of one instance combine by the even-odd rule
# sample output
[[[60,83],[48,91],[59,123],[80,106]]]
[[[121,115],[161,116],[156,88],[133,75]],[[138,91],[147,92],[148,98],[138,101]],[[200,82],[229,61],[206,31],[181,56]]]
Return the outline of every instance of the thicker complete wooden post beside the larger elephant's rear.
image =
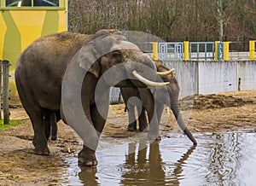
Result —
[[[9,61],[3,60],[3,124],[9,124]]]

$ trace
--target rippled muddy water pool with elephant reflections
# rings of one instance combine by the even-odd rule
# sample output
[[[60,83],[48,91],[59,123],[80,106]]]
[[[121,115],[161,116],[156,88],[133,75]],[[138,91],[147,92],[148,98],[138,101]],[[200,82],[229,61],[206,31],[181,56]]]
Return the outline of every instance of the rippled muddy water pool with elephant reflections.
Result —
[[[69,185],[253,185],[256,177],[256,134],[200,134],[191,146],[172,134],[160,142],[113,142],[105,137],[97,152],[99,165],[80,170],[77,158],[67,161]],[[129,140],[131,141],[131,140]]]

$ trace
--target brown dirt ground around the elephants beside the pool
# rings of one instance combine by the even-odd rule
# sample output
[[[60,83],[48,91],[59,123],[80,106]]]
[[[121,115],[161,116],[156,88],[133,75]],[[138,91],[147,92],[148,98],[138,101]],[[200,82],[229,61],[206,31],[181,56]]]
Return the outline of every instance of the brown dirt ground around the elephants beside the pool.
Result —
[[[234,91],[212,95],[195,95],[180,100],[183,119],[192,133],[256,131],[256,90]],[[104,135],[131,137],[138,131],[127,131],[124,104],[112,105]],[[34,154],[32,125],[23,108],[11,108],[11,119],[25,119],[24,124],[0,131],[0,185],[59,185],[65,183],[67,157],[77,157],[82,143],[73,130],[58,123],[57,141],[49,140],[51,155]],[[177,127],[172,111],[165,108],[160,133],[182,131]],[[62,173],[61,173],[62,172]]]

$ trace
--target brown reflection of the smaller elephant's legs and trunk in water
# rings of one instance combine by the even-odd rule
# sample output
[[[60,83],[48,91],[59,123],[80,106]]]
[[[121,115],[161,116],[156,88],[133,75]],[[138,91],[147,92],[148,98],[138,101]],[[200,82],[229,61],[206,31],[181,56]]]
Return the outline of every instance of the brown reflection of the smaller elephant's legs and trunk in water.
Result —
[[[173,163],[175,166],[172,171],[172,179],[166,177],[166,168],[163,166],[163,160],[160,154],[159,142],[152,142],[149,145],[149,154],[147,160],[148,146],[145,142],[140,142],[138,146],[138,153],[136,159],[137,144],[130,143],[128,155],[125,162],[125,171],[123,173],[123,184],[139,183],[145,185],[152,185],[155,183],[166,184],[172,183],[179,185],[179,179],[183,173],[183,165],[188,160],[189,155],[193,153],[196,146],[191,146],[188,151],[181,156],[177,162]],[[172,168],[172,167],[171,167]],[[169,169],[167,169],[169,170]]]

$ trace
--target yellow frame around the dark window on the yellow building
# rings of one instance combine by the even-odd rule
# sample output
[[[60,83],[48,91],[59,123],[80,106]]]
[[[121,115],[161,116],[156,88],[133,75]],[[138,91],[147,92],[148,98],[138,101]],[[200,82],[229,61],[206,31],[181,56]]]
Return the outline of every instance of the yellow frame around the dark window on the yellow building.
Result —
[[[31,0],[33,1],[33,0]],[[65,1],[67,0],[59,0],[59,6],[58,7],[51,7],[51,6],[24,6],[24,7],[18,7],[18,6],[13,6],[13,7],[7,7],[6,6],[6,0],[1,0],[0,2],[0,9],[15,9],[15,10],[19,10],[19,9],[65,9]]]

